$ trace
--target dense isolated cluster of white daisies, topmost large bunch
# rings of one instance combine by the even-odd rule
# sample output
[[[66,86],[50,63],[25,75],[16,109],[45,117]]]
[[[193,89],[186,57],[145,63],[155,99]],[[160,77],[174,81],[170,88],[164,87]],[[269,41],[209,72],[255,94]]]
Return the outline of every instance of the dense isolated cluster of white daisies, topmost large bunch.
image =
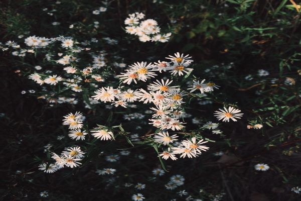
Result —
[[[139,37],[141,42],[146,41],[159,41],[162,43],[167,42],[172,33],[161,34],[161,28],[158,26],[158,22],[153,19],[144,19],[143,13],[132,13],[125,19],[124,24],[126,33],[133,34]]]

